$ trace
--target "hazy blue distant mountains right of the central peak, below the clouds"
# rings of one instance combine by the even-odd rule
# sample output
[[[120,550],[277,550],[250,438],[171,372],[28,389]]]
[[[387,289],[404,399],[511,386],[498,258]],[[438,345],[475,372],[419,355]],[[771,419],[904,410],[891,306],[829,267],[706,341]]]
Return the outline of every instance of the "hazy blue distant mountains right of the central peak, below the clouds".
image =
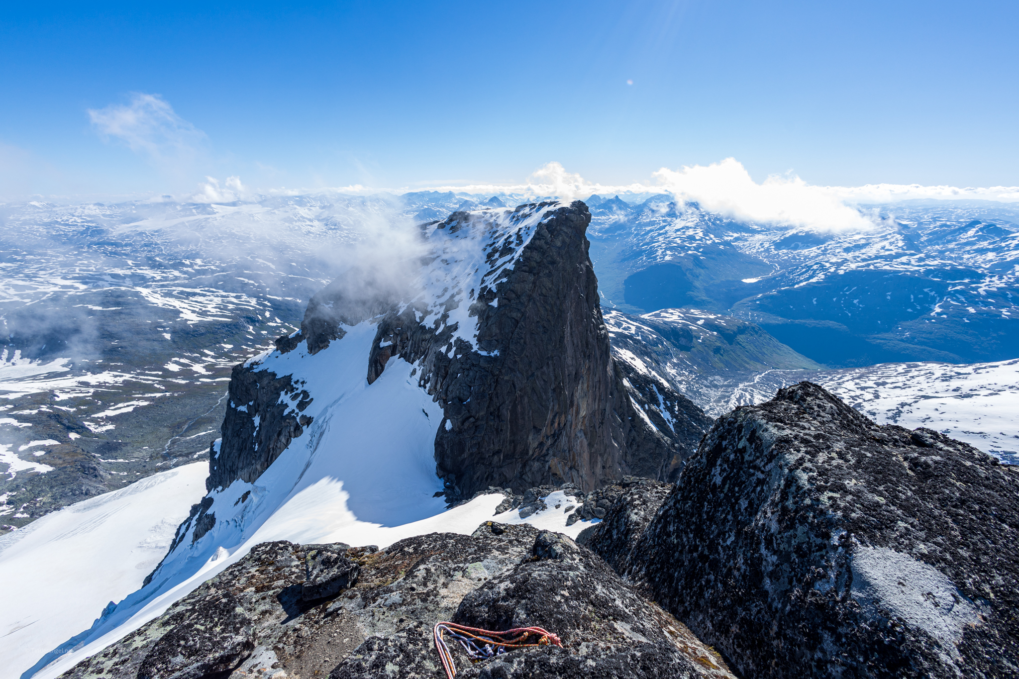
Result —
[[[987,202],[864,208],[875,226],[738,223],[667,196],[592,209],[606,306],[751,321],[832,366],[1019,355],[1019,211]]]

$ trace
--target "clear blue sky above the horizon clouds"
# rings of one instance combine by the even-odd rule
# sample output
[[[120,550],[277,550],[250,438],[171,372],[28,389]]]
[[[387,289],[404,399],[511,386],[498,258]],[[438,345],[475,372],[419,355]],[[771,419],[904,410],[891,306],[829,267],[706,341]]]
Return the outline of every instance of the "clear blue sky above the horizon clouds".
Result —
[[[519,182],[549,161],[629,183],[726,157],[757,180],[1016,185],[1017,27],[1014,1],[6,2],[0,194]],[[185,152],[91,121],[139,93]]]

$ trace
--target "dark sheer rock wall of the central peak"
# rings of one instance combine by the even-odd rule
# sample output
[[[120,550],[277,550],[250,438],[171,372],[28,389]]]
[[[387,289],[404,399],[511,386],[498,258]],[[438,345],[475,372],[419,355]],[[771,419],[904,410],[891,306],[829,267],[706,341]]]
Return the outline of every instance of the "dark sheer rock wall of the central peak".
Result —
[[[435,228],[473,219],[454,213]],[[447,356],[448,338],[415,324],[413,309],[379,323],[368,379],[391,355],[421,360],[421,384],[449,423],[436,435],[435,459],[451,500],[489,486],[590,490],[623,473],[658,476],[675,456],[679,444],[640,418],[612,361],[584,236],[589,221],[581,203],[556,210],[504,280],[478,291],[478,346],[493,355],[454,347]],[[489,261],[508,251],[509,243],[493,247]]]

